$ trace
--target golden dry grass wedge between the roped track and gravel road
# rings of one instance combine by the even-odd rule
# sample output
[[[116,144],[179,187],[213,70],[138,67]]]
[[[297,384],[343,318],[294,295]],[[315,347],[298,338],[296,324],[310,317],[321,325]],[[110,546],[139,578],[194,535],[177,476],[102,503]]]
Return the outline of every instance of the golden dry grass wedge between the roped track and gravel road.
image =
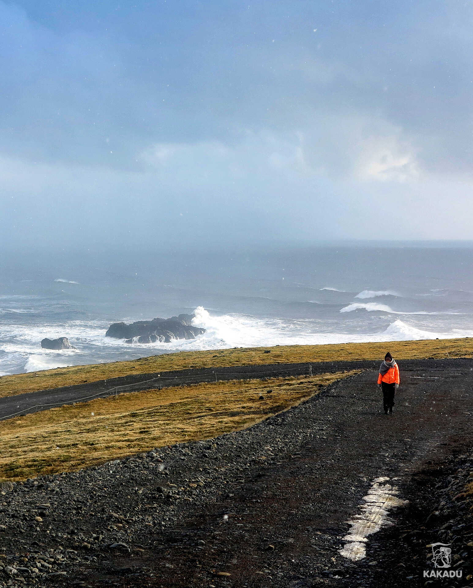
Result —
[[[0,479],[76,471],[244,429],[355,373],[360,370],[132,392],[4,420]]]

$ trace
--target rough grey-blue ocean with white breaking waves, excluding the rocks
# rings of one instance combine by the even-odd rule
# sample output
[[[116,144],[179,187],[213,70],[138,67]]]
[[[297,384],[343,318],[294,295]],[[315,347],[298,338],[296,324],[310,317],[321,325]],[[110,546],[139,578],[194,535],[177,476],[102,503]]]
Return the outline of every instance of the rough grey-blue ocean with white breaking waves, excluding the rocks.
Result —
[[[473,245],[4,252],[0,375],[180,350],[473,336]],[[195,340],[105,337],[194,314]],[[77,350],[41,349],[66,336]]]

